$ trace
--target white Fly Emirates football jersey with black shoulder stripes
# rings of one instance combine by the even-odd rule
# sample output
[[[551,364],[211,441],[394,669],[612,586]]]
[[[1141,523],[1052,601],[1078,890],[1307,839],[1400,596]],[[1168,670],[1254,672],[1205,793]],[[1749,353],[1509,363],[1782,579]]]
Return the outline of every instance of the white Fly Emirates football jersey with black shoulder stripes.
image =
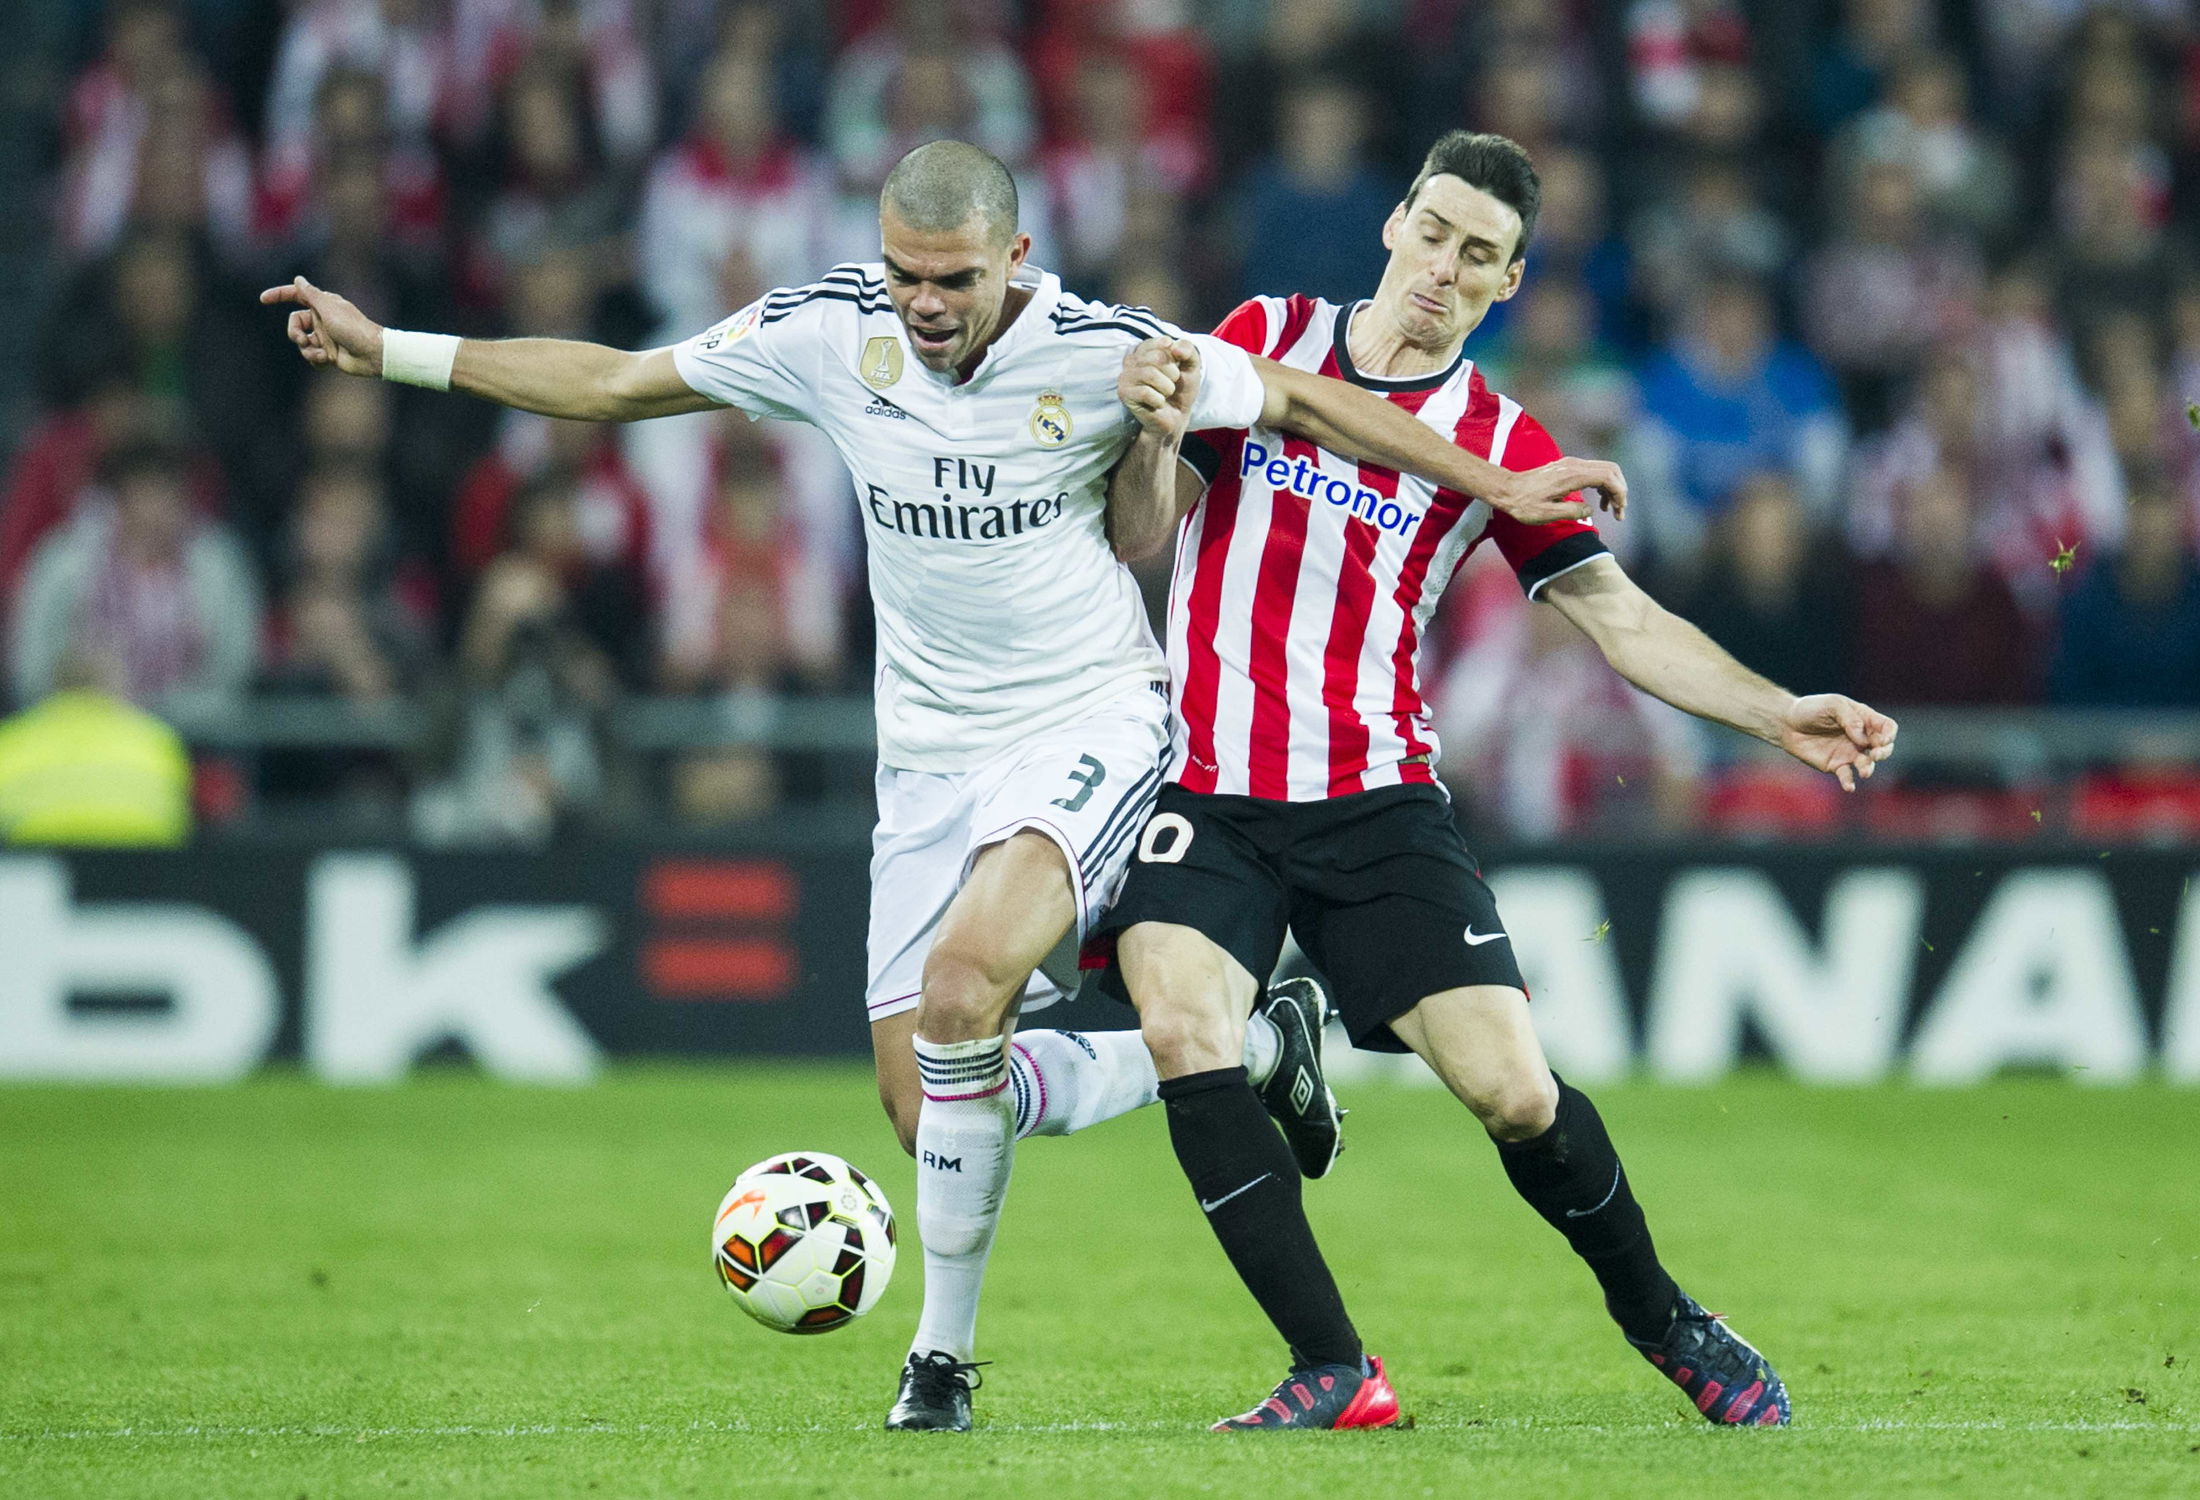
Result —
[[[1109,471],[1137,435],[1115,376],[1151,337],[1181,330],[1043,273],[957,383],[909,348],[884,266],[849,264],[673,348],[697,394],[812,422],[840,449],[871,552],[887,765],[970,770],[1166,680],[1104,532]],[[1245,352],[1195,341],[1192,429],[1256,422],[1263,387]]]

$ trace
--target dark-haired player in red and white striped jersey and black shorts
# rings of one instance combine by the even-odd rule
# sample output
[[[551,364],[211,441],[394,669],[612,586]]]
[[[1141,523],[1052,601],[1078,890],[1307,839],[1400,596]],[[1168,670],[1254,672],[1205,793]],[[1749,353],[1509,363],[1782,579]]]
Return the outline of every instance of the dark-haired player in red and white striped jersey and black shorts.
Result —
[[[1382,229],[1390,262],[1371,299],[1256,297],[1217,334],[1377,391],[1505,468],[1547,464],[1551,435],[1465,356],[1489,304],[1520,286],[1536,205],[1527,152],[1452,132]],[[1628,581],[1586,504],[1522,523],[1267,427],[1190,435],[1197,383],[1166,341],[1124,363],[1142,433],[1118,471],[1115,539],[1140,556],[1181,523],[1168,605],[1177,726],[1168,785],[1100,935],[1118,939],[1111,981],[1140,1010],[1186,1177],[1291,1350],[1276,1392],[1219,1430],[1397,1421],[1307,1227],[1291,1157],[1239,1067],[1239,1021],[1285,928],[1335,985],[1355,1045],[1417,1051],[1474,1111],[1514,1188],[1597,1276],[1630,1346],[1709,1421],[1784,1423],[1780,1377],[1674,1284],[1597,1109],[1544,1062],[1511,941],[1434,774],[1417,658],[1445,583],[1492,541],[1529,598],[1573,620],[1628,682],[1844,790],[1892,750],[1894,721],[1745,669]]]

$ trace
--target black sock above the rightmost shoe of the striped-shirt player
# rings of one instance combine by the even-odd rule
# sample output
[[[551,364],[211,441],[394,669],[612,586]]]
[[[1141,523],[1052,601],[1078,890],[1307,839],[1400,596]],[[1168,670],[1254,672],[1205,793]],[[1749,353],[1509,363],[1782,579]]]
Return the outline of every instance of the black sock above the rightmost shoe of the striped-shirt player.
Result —
[[[1619,1328],[1632,1339],[1661,1339],[1672,1326],[1672,1300],[1681,1289],[1659,1265],[1643,1207],[1628,1188],[1597,1106],[1566,1080],[1551,1078],[1558,1082],[1558,1120],[1531,1141],[1496,1141],[1498,1159],[1514,1190],[1597,1273]]]

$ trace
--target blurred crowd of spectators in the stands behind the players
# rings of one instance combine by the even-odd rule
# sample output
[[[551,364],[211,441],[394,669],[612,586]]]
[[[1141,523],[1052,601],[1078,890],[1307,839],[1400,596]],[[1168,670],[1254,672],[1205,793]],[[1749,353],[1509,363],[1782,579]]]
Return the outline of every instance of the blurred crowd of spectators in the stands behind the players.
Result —
[[[664,343],[873,257],[946,134],[1041,264],[1186,326],[1368,295],[1428,141],[1514,136],[1542,222],[1470,354],[1626,464],[1654,594],[1800,691],[2200,708],[2182,0],[20,0],[0,84],[0,825],[24,765],[167,787],[174,836],[858,805],[814,433],[312,374],[255,293]],[[1485,836],[2200,829],[2174,713],[2077,763],[1923,743],[1844,807],[1481,561],[1428,680]]]

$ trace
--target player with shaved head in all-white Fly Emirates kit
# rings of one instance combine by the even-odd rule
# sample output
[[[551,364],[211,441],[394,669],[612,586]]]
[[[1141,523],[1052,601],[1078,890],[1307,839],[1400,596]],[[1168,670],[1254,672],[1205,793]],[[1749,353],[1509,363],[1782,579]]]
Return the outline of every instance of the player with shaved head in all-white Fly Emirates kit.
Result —
[[[880,264],[836,266],[649,352],[383,330],[304,277],[260,299],[297,308],[290,341],[312,365],[581,420],[733,405],[812,422],[840,451],[878,614],[867,1003],[880,1098],[917,1157],[924,1243],[924,1311],[887,1425],[968,1430],[1016,1135],[1157,1091],[1135,1032],[1010,1034],[1069,983],[1049,955],[1074,966],[1162,781],[1166,666],[1115,561],[1107,490],[1137,431],[1115,391],[1124,356],[1179,334],[1032,277],[1008,169],[959,141],[893,169],[880,235]],[[1509,473],[1351,385],[1195,345],[1197,427],[1296,431],[1527,521],[1577,512],[1580,488],[1624,490],[1610,464]],[[1265,1051],[1256,1076],[1278,1067],[1274,1034]],[[1318,1082],[1318,1054],[1300,1062]]]

